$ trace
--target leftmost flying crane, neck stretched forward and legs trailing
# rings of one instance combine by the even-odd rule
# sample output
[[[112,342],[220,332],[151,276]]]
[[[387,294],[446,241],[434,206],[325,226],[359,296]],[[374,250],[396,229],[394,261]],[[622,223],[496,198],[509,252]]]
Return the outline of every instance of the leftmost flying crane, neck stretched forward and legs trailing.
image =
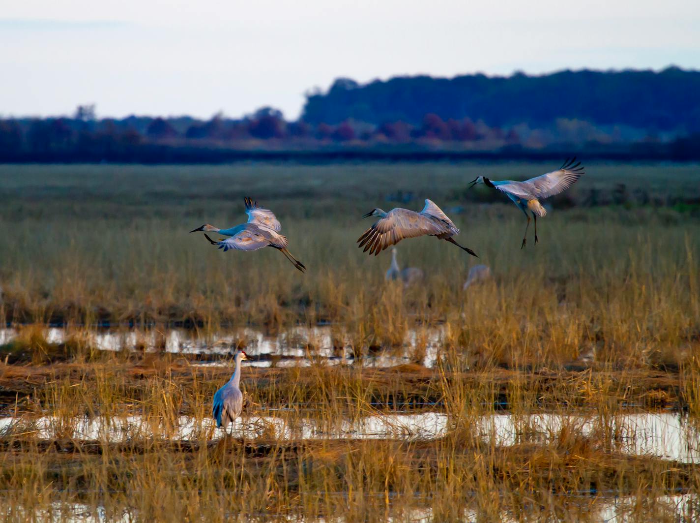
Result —
[[[221,241],[214,241],[207,234],[204,237],[209,240],[211,245],[218,245],[219,249],[224,252],[229,249],[237,250],[258,250],[262,247],[274,247],[284,254],[289,261],[300,271],[304,272],[306,267],[301,261],[297,260],[287,250],[288,241],[286,236],[282,236],[279,231],[282,226],[275,217],[274,213],[258,205],[258,202],[253,203],[251,198],[244,198],[246,202],[246,215],[248,222],[231,227],[230,229],[218,229],[213,225],[204,224],[190,233],[197,231],[213,231],[222,236],[230,236],[230,238]]]

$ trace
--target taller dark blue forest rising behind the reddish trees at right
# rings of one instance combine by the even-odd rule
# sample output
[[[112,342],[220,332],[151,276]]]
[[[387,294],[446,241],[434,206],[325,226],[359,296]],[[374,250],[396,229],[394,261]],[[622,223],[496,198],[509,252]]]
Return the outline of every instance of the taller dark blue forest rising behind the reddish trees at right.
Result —
[[[348,119],[381,125],[423,116],[472,118],[507,127],[544,126],[557,118],[647,130],[700,131],[700,72],[561,71],[542,76],[473,74],[453,79],[398,77],[360,85],[337,79],[326,93],[307,95],[302,118],[337,124]]]

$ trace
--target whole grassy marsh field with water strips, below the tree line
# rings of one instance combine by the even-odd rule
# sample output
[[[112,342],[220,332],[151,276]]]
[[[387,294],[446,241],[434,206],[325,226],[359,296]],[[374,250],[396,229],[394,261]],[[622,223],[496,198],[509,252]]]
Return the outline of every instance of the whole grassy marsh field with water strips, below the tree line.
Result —
[[[514,205],[465,192],[556,167],[0,165],[0,518],[694,519],[700,168],[586,164],[524,250]],[[248,195],[306,274],[188,234]],[[405,240],[426,283],[387,283],[360,216],[425,197],[479,259]]]

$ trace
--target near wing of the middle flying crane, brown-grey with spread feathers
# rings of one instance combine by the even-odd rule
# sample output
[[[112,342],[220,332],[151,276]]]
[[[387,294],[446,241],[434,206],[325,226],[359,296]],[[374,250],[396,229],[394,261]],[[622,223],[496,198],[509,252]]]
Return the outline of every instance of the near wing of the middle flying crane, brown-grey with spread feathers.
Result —
[[[363,252],[369,250],[370,254],[376,256],[389,245],[399,243],[404,238],[426,235],[440,236],[450,233],[450,231],[449,225],[420,212],[392,209],[386,213],[386,217],[379,219],[377,223],[367,229],[357,241],[360,244],[358,247],[364,245]]]

